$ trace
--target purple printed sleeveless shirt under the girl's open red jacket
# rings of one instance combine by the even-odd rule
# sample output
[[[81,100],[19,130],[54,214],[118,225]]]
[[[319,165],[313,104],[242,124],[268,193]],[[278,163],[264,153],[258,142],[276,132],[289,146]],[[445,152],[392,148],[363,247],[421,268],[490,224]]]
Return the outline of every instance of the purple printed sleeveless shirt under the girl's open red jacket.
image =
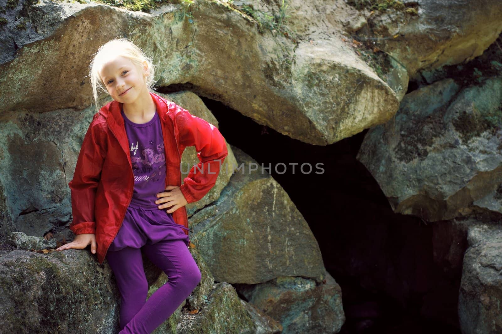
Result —
[[[157,193],[166,189],[166,155],[159,114],[147,123],[131,122],[121,111],[129,139],[134,174],[131,206],[156,208]]]

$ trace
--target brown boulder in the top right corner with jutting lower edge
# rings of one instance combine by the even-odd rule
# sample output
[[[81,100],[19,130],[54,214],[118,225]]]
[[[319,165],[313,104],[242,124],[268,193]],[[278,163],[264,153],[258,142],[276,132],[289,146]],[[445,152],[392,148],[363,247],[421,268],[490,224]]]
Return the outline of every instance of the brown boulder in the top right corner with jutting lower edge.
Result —
[[[366,4],[369,7],[371,2]],[[373,13],[366,8],[350,21],[362,21],[355,28],[356,39],[368,40],[390,55],[406,67],[410,77],[421,69],[468,62],[481,55],[502,31],[502,5],[498,0],[419,0],[401,4],[398,9]],[[345,23],[349,32],[353,26]]]

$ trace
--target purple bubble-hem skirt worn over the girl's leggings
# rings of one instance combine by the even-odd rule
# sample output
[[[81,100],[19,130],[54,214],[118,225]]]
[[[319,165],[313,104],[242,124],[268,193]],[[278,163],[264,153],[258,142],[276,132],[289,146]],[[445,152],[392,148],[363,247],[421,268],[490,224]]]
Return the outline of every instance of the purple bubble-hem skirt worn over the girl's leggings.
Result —
[[[161,240],[185,241],[188,247],[189,236],[185,226],[177,224],[167,209],[144,208],[130,205],[118,234],[110,244],[109,251],[117,251],[125,247],[141,248],[145,244],[154,244]]]

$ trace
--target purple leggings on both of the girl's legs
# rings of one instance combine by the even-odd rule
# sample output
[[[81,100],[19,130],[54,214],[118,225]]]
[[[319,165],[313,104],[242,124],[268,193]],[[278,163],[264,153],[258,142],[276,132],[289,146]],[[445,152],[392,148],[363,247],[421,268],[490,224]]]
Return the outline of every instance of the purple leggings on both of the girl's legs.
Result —
[[[148,300],[141,249],[126,247],[106,253],[121,296],[119,334],[150,334],[174,313],[201,280],[199,267],[184,240],[147,243],[143,250],[169,278]]]

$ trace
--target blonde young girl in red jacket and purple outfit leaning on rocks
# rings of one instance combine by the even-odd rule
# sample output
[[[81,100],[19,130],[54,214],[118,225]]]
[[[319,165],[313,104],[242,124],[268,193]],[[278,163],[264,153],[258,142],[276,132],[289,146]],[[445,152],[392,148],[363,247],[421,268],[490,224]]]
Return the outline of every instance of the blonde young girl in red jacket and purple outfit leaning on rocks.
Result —
[[[150,92],[152,61],[131,41],[104,44],[89,68],[96,106],[98,87],[113,101],[84,136],[68,184],[76,236],[57,250],[90,244],[99,263],[106,257],[121,296],[120,334],[151,333],[201,280],[185,205],[214,185],[226,145],[213,125]],[[181,184],[187,146],[195,146],[199,164]],[[169,278],[148,301],[141,249]]]

